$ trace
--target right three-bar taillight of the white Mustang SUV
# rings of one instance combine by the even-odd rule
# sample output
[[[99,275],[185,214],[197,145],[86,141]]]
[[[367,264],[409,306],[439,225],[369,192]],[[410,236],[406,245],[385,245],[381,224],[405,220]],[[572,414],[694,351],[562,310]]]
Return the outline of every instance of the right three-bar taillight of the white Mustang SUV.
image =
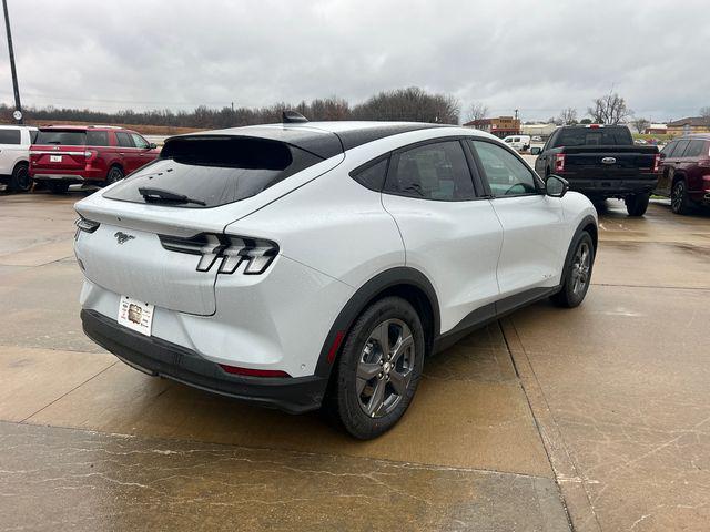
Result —
[[[197,272],[210,272],[219,264],[220,274],[233,274],[244,263],[245,275],[260,275],[278,255],[275,242],[246,236],[202,233],[191,238],[160,235],[163,248],[170,252],[200,255]]]

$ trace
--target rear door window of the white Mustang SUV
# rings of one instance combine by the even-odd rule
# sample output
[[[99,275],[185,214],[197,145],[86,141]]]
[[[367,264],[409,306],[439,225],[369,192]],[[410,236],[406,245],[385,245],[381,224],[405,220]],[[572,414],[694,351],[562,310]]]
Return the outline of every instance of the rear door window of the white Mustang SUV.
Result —
[[[400,153],[385,192],[442,202],[471,200],[474,182],[463,146],[446,141]]]

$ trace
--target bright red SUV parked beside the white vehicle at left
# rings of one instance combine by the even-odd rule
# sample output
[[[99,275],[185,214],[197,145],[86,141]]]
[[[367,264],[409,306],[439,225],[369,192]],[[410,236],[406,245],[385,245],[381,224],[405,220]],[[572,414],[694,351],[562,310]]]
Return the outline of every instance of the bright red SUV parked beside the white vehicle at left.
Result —
[[[72,183],[110,185],[154,161],[160,151],[139,133],[108,125],[40,127],[30,177],[57,194]]]

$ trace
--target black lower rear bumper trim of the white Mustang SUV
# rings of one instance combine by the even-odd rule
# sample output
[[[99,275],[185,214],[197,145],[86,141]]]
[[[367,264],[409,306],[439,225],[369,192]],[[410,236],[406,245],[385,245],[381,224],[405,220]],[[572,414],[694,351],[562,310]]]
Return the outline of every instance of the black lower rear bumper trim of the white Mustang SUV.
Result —
[[[325,378],[233,376],[190,349],[143,336],[94,310],[82,310],[81,320],[89,338],[145,374],[290,413],[315,410],[323,402]]]

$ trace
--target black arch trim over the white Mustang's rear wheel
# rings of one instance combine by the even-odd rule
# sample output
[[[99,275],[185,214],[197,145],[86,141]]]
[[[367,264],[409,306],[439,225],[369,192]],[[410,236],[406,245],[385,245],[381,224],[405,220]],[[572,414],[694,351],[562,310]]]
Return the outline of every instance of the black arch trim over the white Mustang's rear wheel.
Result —
[[[329,378],[343,340],[357,317],[369,305],[387,296],[402,297],[417,310],[425,330],[427,354],[432,351],[434,338],[440,331],[440,310],[436,290],[422,272],[406,266],[395,267],[369,279],[345,304],[321,348],[315,369],[318,377]]]

